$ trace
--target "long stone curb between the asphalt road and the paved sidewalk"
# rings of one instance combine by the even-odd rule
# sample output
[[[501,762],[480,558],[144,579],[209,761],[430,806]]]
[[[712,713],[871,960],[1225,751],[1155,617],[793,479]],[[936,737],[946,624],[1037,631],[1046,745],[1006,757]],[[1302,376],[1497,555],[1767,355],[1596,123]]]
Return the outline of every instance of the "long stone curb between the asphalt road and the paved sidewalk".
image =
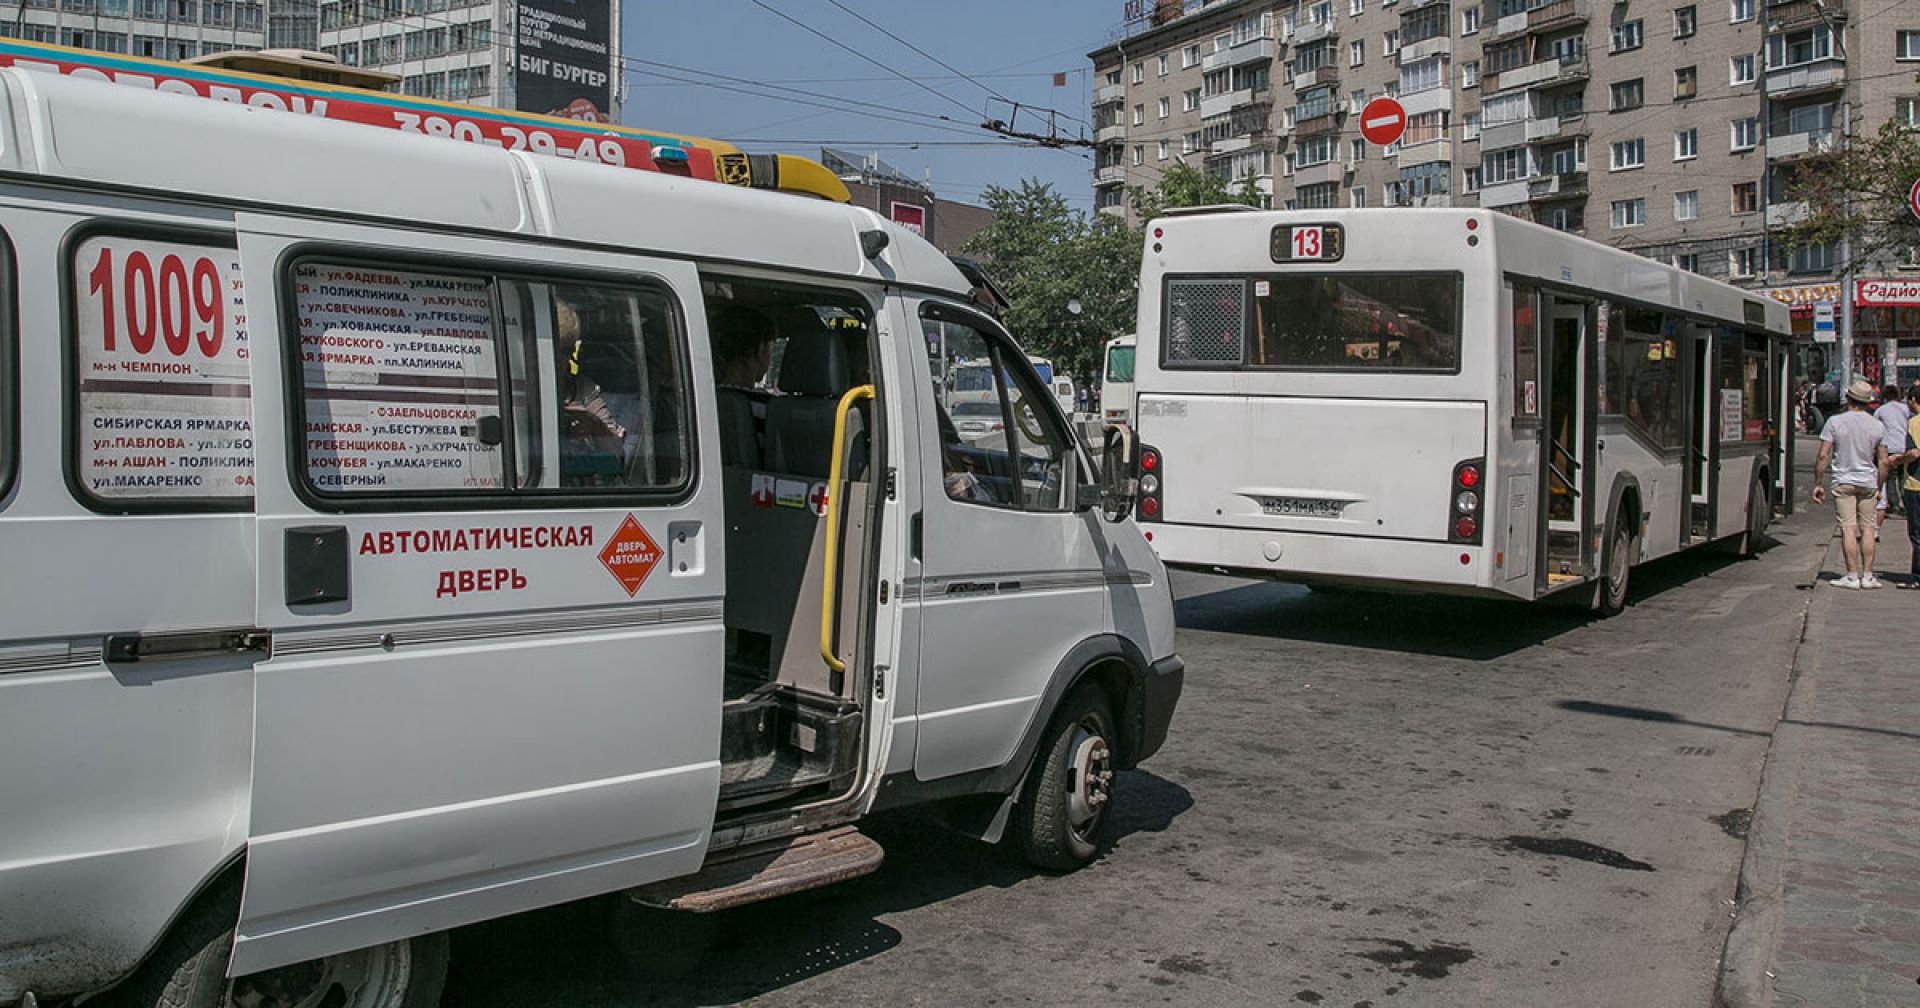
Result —
[[[1793,799],[1799,793],[1801,733],[1797,726],[1782,724],[1791,710],[1801,707],[1801,687],[1809,666],[1818,659],[1822,626],[1814,624],[1812,609],[1822,603],[1820,572],[1834,551],[1834,536],[1828,534],[1820,547],[1820,561],[1809,576],[1809,599],[1801,609],[1799,643],[1793,645],[1793,662],[1788,684],[1788,699],[1782,705],[1780,720],[1774,722],[1772,741],[1766,745],[1766,760],[1761,770],[1761,787],[1753,799],[1753,822],[1747,828],[1747,851],[1740,860],[1740,885],[1734,891],[1734,925],[1726,933],[1726,947],[1720,952],[1720,975],[1715,983],[1715,1008],[1764,1008],[1772,1004],[1772,966],[1780,920],[1782,870],[1788,854],[1788,828],[1793,822]]]

